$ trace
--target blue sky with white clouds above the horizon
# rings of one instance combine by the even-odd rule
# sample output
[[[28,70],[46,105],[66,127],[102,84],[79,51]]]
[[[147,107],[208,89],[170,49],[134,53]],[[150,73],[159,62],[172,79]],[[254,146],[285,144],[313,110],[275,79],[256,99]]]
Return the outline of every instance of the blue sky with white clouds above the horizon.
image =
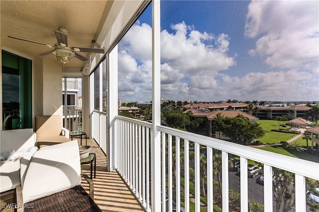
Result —
[[[161,97],[319,101],[318,1],[161,1]],[[152,11],[119,44],[119,98],[152,100]]]

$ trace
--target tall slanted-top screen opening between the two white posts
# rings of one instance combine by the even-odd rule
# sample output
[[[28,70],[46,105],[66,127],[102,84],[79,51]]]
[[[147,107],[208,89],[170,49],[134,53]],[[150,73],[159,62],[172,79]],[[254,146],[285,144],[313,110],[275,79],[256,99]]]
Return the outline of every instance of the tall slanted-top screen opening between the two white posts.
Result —
[[[140,115],[137,103],[152,101],[152,4],[118,43],[118,92],[120,115],[150,120],[150,108]]]

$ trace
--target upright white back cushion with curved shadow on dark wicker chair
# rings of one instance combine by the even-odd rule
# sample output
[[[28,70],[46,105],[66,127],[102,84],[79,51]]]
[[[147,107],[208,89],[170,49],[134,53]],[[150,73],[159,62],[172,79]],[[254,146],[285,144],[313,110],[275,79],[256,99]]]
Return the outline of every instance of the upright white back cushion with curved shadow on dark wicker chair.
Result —
[[[28,203],[81,183],[80,154],[77,140],[40,148],[27,168],[23,203]]]

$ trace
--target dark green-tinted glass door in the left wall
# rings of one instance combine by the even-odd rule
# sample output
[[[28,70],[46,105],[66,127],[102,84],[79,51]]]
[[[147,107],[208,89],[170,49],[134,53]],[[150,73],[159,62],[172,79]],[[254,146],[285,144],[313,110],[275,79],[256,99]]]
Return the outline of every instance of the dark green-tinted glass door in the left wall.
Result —
[[[2,129],[32,127],[31,61],[2,51]]]

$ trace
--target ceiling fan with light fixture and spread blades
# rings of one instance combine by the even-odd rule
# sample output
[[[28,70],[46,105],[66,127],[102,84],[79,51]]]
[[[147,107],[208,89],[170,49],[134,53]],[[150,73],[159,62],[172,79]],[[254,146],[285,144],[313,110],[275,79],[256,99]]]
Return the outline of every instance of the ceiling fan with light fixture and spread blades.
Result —
[[[82,61],[88,60],[88,58],[78,54],[77,52],[93,52],[93,53],[104,54],[104,49],[86,48],[86,47],[72,47],[72,46],[68,45],[68,35],[67,35],[68,30],[66,28],[59,27],[58,30],[54,30],[54,33],[55,33],[55,37],[57,40],[57,43],[54,45],[41,43],[41,42],[37,42],[37,41],[33,41],[33,40],[28,40],[25,38],[10,36],[10,35],[8,37],[45,45],[49,48],[54,48],[53,50],[48,51],[48,52],[44,52],[40,55],[45,56],[45,55],[49,55],[52,53],[55,55],[56,60],[63,63],[63,64],[71,62],[73,57],[75,57],[79,60],[82,60]]]

